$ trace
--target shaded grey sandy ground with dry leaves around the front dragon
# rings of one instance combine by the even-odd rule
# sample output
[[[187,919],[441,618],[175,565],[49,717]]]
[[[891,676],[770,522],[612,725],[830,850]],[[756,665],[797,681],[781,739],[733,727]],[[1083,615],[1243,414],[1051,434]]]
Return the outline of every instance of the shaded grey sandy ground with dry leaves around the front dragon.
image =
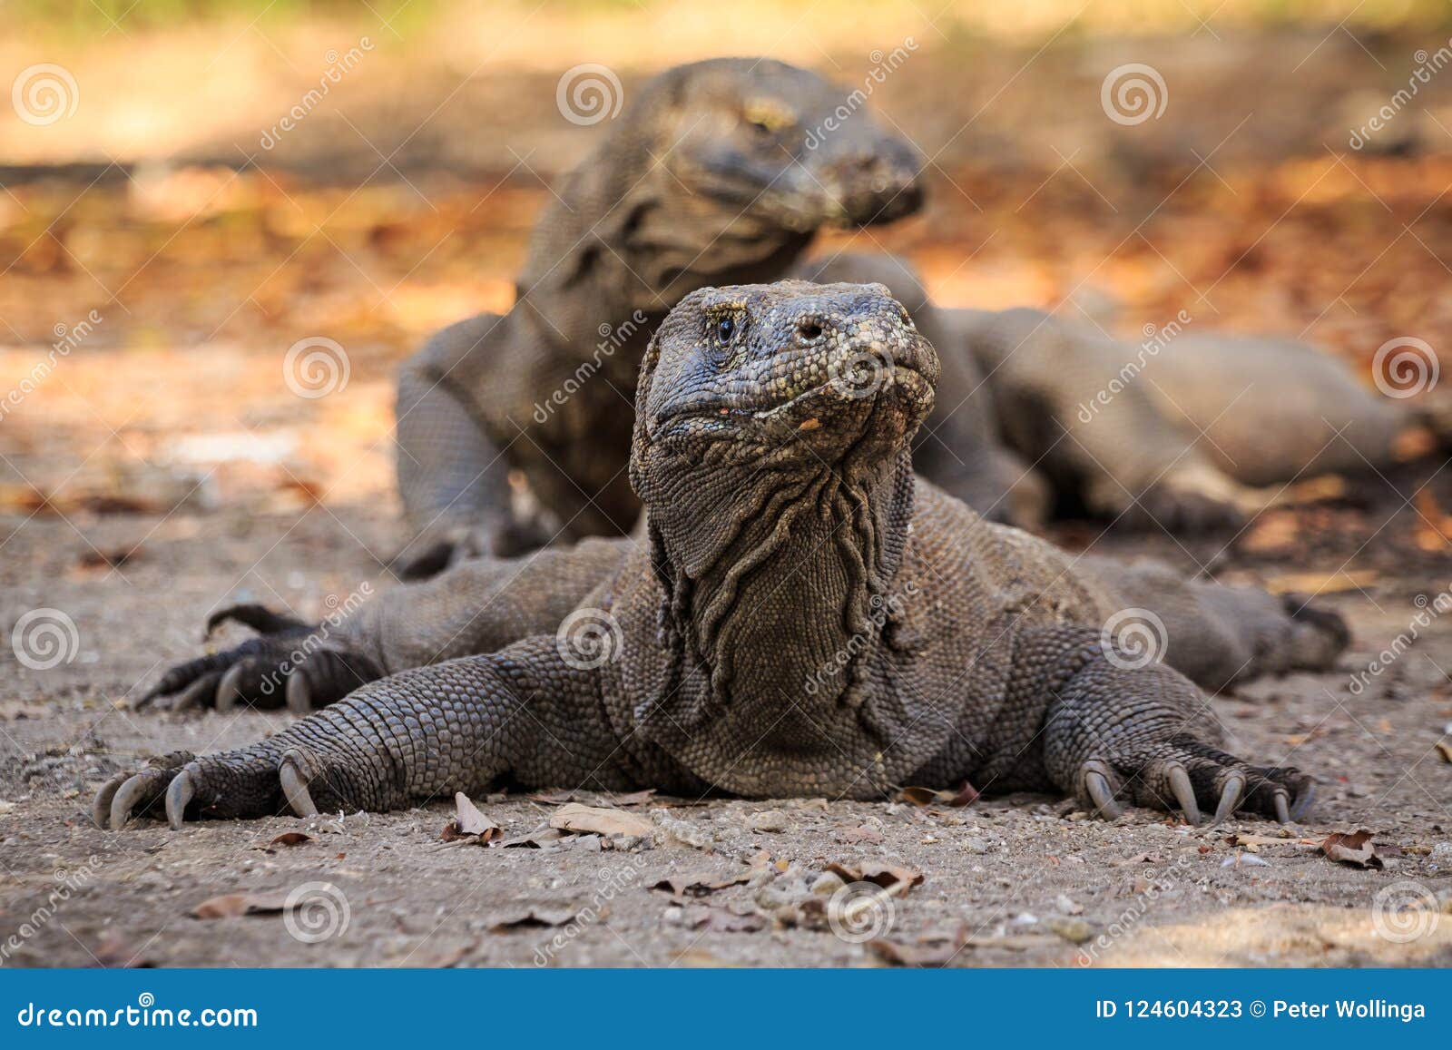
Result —
[[[1372,516],[1372,524],[1388,521],[1385,534],[1413,514],[1394,508]],[[126,548],[147,533],[142,553],[119,569],[80,565],[91,545]],[[222,595],[317,613],[328,594],[378,577],[375,555],[392,539],[386,505],[164,521],[13,518],[6,534],[7,607],[64,609],[80,636],[76,659],[48,671],[17,667],[9,648],[0,656],[0,934],[20,934],[19,950],[4,948],[6,964],[871,966],[905,953],[954,966],[1452,963],[1452,918],[1398,911],[1427,893],[1445,903],[1452,890],[1452,764],[1435,746],[1452,720],[1442,671],[1452,667],[1452,629],[1433,623],[1361,694],[1349,687],[1352,672],[1407,629],[1414,595],[1435,594],[1426,578],[1372,581],[1362,571],[1362,590],[1321,598],[1356,633],[1342,668],[1215,700],[1237,751],[1320,777],[1313,818],[1286,832],[1259,821],[1195,831],[1147,810],[1105,823],[1043,796],[961,809],[658,799],[630,806],[662,828],[653,839],[481,848],[441,841],[446,802],[177,834],[151,822],[122,834],[90,823],[90,796],[112,771],[176,748],[241,745],[286,723],[285,713],[261,712],[144,715],[122,701],[167,662],[197,652],[199,624]],[[1098,549],[1146,546],[1175,548],[1109,537]],[[1186,553],[1207,559],[1215,546]],[[1278,578],[1253,561],[1231,553],[1223,572]],[[1321,568],[1342,561],[1330,552]],[[1281,579],[1310,574],[1302,566]],[[1331,579],[1346,577],[1323,585],[1345,585]],[[547,822],[558,799],[479,803],[515,837]],[[1388,854],[1382,870],[1320,854],[1329,832],[1358,828]],[[311,839],[270,845],[299,829]],[[1233,835],[1272,841],[1233,845]],[[823,900],[812,884],[833,863],[922,873],[921,884],[868,913],[877,940],[902,950],[844,940],[820,908],[803,905]],[[684,900],[652,889],[671,877],[748,873]],[[317,906],[279,912],[293,890],[312,893]],[[253,895],[264,913],[192,915],[234,893]],[[1420,935],[1397,940],[1403,929]],[[290,931],[330,935],[312,943]]]

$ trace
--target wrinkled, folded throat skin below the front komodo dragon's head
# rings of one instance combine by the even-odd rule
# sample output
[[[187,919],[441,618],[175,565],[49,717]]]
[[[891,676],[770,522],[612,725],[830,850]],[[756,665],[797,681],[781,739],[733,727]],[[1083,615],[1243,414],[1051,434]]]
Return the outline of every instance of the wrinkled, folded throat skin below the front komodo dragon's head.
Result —
[[[723,463],[719,485],[710,452],[648,502],[674,664],[649,720],[709,733],[726,754],[802,757],[845,735],[886,736],[864,710],[862,675],[892,632],[912,518],[906,447],[817,469]]]

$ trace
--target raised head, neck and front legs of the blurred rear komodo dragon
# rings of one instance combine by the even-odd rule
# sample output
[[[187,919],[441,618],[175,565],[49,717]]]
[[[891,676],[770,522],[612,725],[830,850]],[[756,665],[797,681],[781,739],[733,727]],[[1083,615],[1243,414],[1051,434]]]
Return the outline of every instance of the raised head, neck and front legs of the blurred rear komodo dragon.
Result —
[[[681,65],[640,87],[555,187],[513,309],[444,328],[401,369],[398,484],[412,532],[401,577],[630,530],[630,408],[665,312],[697,288],[786,276],[820,227],[889,222],[921,203],[918,152],[865,110],[842,119],[847,94],[765,58]],[[945,369],[944,404],[976,411],[935,420],[918,468],[1006,514],[1022,469],[993,450],[987,395],[961,367]],[[542,514],[513,513],[511,471]]]

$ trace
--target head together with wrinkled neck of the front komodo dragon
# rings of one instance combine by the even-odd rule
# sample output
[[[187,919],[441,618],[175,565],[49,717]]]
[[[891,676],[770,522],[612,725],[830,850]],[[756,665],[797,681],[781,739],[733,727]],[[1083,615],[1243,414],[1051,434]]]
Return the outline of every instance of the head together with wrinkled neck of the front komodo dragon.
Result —
[[[764,720],[790,751],[845,717],[842,738],[860,736],[851,675],[815,690],[810,715],[783,710],[781,688],[800,696],[851,638],[883,630],[912,520],[909,441],[937,378],[883,285],[707,288],[671,311],[642,363],[630,478],[664,646],[706,674],[666,690],[669,717],[643,716],[646,732],[726,739]]]

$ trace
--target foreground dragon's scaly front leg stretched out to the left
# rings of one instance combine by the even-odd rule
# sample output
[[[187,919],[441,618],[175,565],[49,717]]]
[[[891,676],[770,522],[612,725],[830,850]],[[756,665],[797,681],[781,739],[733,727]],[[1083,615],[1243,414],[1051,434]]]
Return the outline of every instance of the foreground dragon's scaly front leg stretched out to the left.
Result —
[[[227,755],[168,755],[110,780],[93,816],[102,828],[125,828],[134,813],[161,803],[180,828],[203,816],[398,809],[481,791],[505,773],[529,783],[627,787],[613,751],[598,674],[566,664],[546,635],[364,685]]]

